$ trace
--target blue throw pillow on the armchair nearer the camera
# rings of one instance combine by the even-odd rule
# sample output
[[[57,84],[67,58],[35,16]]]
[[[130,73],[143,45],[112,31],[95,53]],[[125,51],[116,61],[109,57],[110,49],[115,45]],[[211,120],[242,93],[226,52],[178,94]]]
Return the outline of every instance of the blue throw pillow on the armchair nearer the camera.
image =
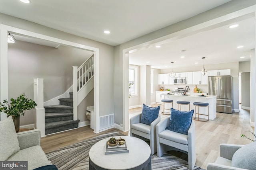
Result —
[[[180,111],[171,108],[170,123],[165,129],[188,135],[188,129],[192,122],[193,113],[194,110]]]

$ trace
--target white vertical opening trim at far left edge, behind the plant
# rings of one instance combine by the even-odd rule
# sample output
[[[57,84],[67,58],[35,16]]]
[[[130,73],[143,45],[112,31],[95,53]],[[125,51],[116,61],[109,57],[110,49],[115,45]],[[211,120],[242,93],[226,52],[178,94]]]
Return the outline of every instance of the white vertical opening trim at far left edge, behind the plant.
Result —
[[[8,43],[7,30],[0,27],[0,101],[8,100]],[[6,119],[6,113],[1,113],[0,120]]]

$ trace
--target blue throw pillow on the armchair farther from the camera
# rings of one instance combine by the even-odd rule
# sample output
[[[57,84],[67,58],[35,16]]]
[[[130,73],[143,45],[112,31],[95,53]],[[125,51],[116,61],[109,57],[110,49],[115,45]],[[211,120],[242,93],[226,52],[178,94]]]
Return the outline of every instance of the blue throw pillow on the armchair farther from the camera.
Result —
[[[160,106],[148,107],[143,104],[140,122],[150,125],[158,117]]]

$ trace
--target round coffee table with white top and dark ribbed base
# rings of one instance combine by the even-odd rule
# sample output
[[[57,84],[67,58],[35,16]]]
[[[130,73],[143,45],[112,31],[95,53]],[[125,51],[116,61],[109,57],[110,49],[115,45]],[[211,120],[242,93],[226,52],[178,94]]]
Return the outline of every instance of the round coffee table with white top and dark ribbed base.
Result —
[[[136,137],[117,136],[125,139],[129,152],[105,154],[106,142],[102,139],[92,146],[89,152],[90,170],[151,170],[149,145]]]

